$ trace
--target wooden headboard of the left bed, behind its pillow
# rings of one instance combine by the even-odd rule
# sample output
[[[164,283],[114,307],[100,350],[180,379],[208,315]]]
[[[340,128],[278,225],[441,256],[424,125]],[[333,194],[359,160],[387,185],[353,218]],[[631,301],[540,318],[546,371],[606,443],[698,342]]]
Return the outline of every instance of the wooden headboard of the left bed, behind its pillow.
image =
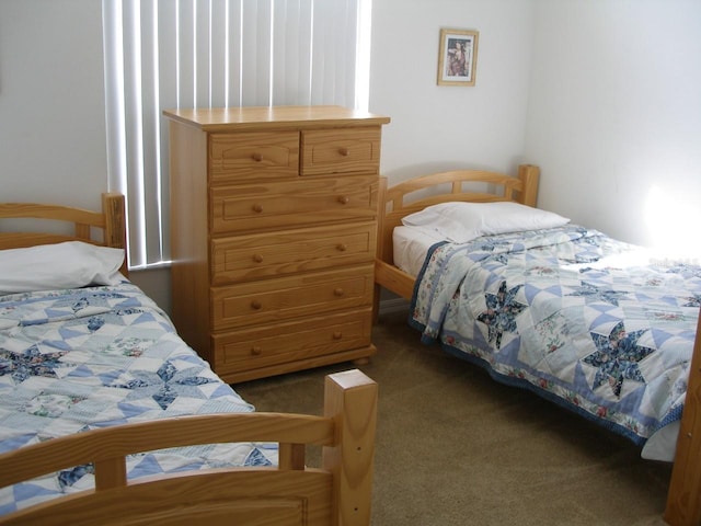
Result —
[[[64,241],[85,241],[124,249],[120,272],[127,276],[127,238],[124,195],[102,194],[102,211],[61,205],[0,203],[0,219],[37,219],[72,224],[71,233],[0,230],[0,250],[35,247]],[[0,224],[1,225],[1,224]]]

